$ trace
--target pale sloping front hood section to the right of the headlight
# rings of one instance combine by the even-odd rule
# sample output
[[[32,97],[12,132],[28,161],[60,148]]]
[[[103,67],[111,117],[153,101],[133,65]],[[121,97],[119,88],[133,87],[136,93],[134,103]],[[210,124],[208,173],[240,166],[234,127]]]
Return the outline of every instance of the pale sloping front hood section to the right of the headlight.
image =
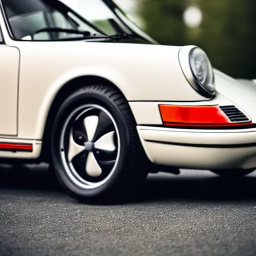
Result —
[[[216,90],[243,109],[256,122],[256,83],[234,79],[214,69]]]

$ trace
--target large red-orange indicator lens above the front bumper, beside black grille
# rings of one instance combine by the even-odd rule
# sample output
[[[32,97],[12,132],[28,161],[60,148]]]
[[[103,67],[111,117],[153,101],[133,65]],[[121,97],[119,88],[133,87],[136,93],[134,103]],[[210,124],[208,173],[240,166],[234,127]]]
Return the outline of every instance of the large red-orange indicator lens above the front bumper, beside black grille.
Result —
[[[217,106],[159,105],[165,125],[175,126],[226,126],[245,125],[250,122],[232,123]]]

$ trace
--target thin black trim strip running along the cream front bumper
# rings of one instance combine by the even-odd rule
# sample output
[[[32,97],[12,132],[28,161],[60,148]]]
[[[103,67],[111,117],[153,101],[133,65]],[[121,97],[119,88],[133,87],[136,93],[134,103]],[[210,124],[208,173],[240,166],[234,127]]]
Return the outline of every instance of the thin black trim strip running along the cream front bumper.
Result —
[[[189,143],[178,143],[178,142],[165,142],[165,141],[155,141],[151,139],[144,139],[147,142],[153,142],[157,144],[168,144],[168,145],[179,145],[179,146],[193,146],[193,147],[209,147],[209,148],[237,148],[237,147],[249,147],[256,146],[255,143],[247,143],[247,144],[231,144],[231,145],[218,145],[218,144],[189,144]]]

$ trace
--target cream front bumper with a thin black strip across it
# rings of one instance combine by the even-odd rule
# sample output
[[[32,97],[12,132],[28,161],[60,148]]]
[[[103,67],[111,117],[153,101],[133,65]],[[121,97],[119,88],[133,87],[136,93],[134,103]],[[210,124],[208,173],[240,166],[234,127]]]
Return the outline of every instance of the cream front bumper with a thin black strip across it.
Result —
[[[137,126],[149,160],[193,169],[256,168],[256,128],[214,130]]]

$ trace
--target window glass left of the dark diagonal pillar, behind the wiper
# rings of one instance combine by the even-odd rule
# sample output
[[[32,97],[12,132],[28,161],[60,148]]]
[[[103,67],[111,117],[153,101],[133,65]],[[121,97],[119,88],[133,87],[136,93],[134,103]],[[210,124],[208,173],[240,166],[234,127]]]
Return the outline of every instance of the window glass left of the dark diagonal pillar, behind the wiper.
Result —
[[[70,32],[41,31],[51,27],[75,29],[56,0],[2,0],[11,33],[18,40],[56,40],[81,37]]]

